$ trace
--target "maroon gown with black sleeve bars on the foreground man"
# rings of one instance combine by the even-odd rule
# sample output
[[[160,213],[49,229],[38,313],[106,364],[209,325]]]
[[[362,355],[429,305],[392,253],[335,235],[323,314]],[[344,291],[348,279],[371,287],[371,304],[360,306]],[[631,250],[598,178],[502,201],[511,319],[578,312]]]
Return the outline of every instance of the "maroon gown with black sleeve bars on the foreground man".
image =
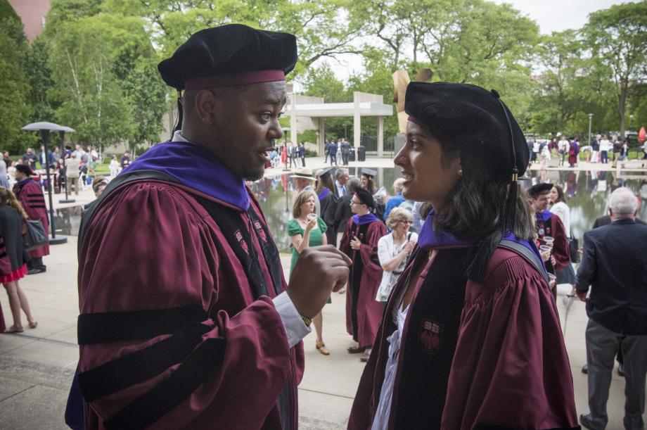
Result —
[[[257,201],[247,191],[252,208],[265,223]],[[82,345],[82,374],[97,368],[103,377],[123,374],[117,382],[101,381],[111,393],[89,401],[88,426],[104,429],[106,420],[130,408],[127,416],[137,419],[162,411],[159,419],[147,424],[150,429],[278,430],[277,398],[286,387],[292,429],[296,429],[302,343],[290,349],[271,301],[275,295],[271,287],[269,296],[252,297],[250,281],[224,236],[233,234],[247,252],[241,232],[222,231],[193,194],[235,208],[186,186],[146,179],[115,190],[91,218],[79,248],[79,319],[96,312],[190,306],[207,316],[189,327],[193,337],[178,331],[147,341]],[[248,230],[253,228],[246,213],[240,212]],[[261,244],[253,232],[251,237],[265,282],[271,286]],[[260,237],[268,239],[264,234]],[[281,283],[285,290],[282,275]],[[142,328],[138,324],[143,322],[136,317],[133,331]],[[174,347],[144,350],[163,341]],[[188,348],[190,355],[172,357],[190,341],[195,343]],[[224,350],[215,348],[216,353],[211,353],[216,342]],[[196,365],[200,360],[202,364]],[[100,367],[103,364],[106,367]],[[179,403],[168,405],[169,398]]]

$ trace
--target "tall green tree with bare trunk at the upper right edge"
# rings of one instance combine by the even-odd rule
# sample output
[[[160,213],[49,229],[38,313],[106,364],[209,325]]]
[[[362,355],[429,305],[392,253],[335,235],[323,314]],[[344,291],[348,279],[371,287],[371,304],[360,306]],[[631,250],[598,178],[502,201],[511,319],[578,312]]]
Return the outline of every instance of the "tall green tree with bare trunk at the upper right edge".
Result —
[[[647,75],[647,1],[591,13],[583,32],[591,45],[592,57],[610,68],[620,135],[624,137],[627,99],[632,87]]]

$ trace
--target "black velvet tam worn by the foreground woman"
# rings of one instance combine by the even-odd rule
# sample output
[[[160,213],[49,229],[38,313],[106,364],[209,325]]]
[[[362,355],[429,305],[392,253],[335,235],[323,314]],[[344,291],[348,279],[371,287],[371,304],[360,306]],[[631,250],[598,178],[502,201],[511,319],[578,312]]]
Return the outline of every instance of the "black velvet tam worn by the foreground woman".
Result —
[[[451,147],[487,158],[501,177],[510,177],[515,165],[518,175],[525,172],[530,157],[525,137],[494,89],[411,82],[406,87],[404,110],[410,120],[427,127]]]

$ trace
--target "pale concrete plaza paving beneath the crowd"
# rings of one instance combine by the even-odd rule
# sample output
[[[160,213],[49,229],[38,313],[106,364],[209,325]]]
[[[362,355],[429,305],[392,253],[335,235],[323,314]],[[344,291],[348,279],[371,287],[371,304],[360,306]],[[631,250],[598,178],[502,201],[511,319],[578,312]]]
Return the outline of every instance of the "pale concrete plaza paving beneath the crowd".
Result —
[[[323,159],[308,158],[307,163],[308,167],[322,167]],[[392,160],[383,158],[352,163],[352,166],[361,165],[392,167]],[[595,167],[602,170],[605,166]],[[588,166],[579,168],[586,170]],[[273,169],[267,173],[276,175],[281,170]],[[56,201],[58,198],[56,196]],[[83,191],[75,204],[87,203],[92,198],[91,191]],[[62,206],[56,204],[56,208]],[[290,255],[283,255],[282,260],[287,271]],[[51,255],[44,258],[44,262],[46,273],[20,281],[39,322],[37,329],[27,329],[25,324],[24,333],[0,334],[0,429],[66,428],[63,412],[78,358],[76,237],[69,236],[67,244],[52,246]],[[560,289],[561,293],[570,291],[569,287],[564,287]],[[314,348],[314,334],[305,339],[306,371],[299,386],[301,429],[344,429],[364,367],[358,355],[346,353],[352,339],[345,330],[345,296],[333,293],[332,301],[324,308],[324,340],[331,355],[321,355]],[[0,303],[7,325],[11,325],[6,293],[0,293]],[[580,372],[586,362],[584,328],[587,315],[584,303],[571,301],[567,306],[563,296],[558,298],[558,309],[579,415],[588,411],[587,378]],[[614,372],[608,403],[608,429],[622,429],[623,405],[624,380]]]

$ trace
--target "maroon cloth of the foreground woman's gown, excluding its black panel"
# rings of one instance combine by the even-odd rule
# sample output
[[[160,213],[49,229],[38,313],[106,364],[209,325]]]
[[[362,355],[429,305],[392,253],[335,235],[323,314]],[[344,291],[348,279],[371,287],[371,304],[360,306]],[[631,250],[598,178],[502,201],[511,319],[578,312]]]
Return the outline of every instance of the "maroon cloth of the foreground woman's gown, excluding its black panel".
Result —
[[[426,254],[421,258],[426,259]],[[397,405],[402,405],[398,398],[420,400],[418,393],[399,382],[403,356],[408,353],[403,346],[425,346],[423,327],[410,327],[409,322],[421,284],[434,262],[427,263],[421,274],[404,324],[389,429],[397,429],[394,421],[398,413],[416,413],[416,410],[397,410]],[[412,265],[400,277],[387,303],[385,319],[357,389],[348,429],[371,429],[388,359],[387,337],[397,328],[392,322],[392,312],[399,305],[397,299],[406,287]],[[407,343],[411,336],[418,341]],[[442,429],[468,430],[478,426],[487,429],[577,427],[572,374],[551,292],[529,263],[502,248],[494,251],[484,282],[468,280],[466,284],[442,410]]]

